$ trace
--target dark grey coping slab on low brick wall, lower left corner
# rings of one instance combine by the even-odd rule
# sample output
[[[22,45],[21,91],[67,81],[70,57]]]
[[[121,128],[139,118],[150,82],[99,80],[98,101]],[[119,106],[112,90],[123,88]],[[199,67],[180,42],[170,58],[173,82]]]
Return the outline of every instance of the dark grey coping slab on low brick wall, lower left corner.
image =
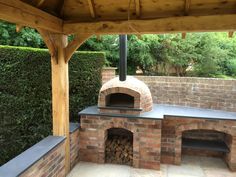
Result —
[[[0,167],[0,177],[21,175],[42,157],[62,143],[64,136],[48,136]]]

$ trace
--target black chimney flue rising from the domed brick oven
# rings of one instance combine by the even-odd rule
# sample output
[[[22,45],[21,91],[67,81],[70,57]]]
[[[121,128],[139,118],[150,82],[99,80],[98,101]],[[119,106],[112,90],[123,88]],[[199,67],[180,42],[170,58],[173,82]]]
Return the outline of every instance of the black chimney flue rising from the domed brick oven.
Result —
[[[119,35],[120,42],[120,63],[119,63],[119,79],[126,80],[127,74],[127,35]]]

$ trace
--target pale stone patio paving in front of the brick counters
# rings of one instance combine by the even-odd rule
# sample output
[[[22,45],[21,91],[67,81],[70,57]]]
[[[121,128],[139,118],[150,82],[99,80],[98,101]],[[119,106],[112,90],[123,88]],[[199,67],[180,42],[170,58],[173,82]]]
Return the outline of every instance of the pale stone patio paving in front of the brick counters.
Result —
[[[79,162],[67,177],[236,177],[236,172],[220,158],[184,156],[181,166],[161,164],[160,171]]]

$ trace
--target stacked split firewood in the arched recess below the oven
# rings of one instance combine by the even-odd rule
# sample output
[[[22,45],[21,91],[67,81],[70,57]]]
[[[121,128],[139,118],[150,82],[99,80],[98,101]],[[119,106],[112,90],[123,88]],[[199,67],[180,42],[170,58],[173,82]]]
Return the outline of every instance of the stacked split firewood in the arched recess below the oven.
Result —
[[[125,136],[112,136],[106,140],[106,163],[132,165],[132,139]]]

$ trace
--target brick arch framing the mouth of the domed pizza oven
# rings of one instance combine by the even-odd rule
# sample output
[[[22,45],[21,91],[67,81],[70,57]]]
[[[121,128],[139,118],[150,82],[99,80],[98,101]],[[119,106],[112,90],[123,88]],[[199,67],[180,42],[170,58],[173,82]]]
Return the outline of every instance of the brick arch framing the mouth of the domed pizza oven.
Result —
[[[123,93],[134,97],[134,108],[141,108],[140,93],[136,90],[126,87],[111,87],[101,91],[98,98],[98,106],[106,106],[106,96],[114,93]]]

